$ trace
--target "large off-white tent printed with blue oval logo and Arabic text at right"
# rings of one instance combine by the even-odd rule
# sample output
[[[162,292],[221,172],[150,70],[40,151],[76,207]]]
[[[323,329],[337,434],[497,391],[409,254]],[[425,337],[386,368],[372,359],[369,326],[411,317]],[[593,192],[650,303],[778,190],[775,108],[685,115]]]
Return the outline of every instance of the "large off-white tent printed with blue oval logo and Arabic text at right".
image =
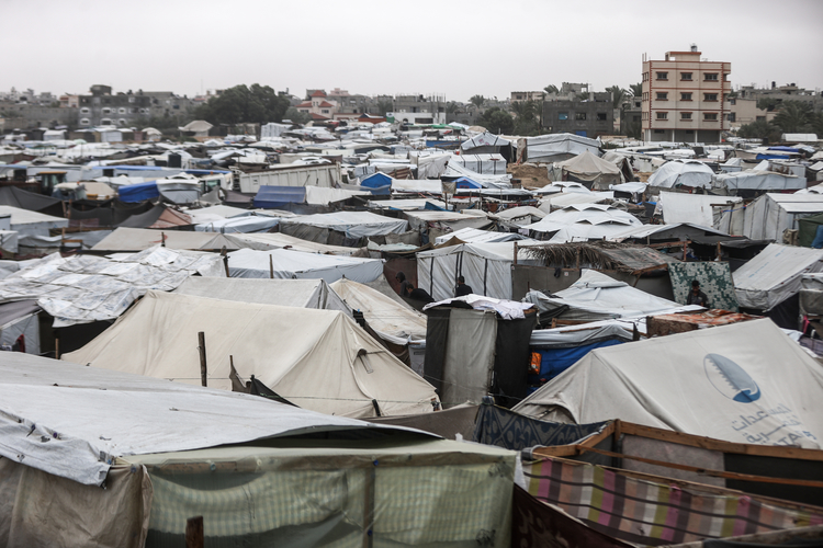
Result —
[[[514,410],[820,448],[821,398],[820,364],[763,319],[595,350]]]

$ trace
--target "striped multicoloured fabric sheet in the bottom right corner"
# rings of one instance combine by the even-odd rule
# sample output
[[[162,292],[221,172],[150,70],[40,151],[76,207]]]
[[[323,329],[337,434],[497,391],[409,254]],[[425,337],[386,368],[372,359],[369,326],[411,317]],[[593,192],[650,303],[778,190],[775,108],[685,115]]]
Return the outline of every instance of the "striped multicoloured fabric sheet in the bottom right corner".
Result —
[[[754,495],[721,495],[634,479],[599,466],[546,459],[523,463],[527,490],[591,528],[659,546],[823,524],[812,514]]]

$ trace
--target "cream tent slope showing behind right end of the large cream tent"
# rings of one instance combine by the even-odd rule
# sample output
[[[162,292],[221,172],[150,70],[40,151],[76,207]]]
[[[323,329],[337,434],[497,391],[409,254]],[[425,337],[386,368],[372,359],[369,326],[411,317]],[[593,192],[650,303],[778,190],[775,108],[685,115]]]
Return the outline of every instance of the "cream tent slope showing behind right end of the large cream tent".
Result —
[[[348,306],[362,311],[369,327],[382,339],[401,345],[426,340],[426,316],[408,305],[351,279],[338,279],[330,287]]]

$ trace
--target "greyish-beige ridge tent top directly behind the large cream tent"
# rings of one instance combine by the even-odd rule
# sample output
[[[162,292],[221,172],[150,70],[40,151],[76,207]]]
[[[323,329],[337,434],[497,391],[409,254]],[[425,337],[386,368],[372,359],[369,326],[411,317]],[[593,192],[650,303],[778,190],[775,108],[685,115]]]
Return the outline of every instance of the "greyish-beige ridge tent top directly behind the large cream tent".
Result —
[[[339,310],[351,316],[343,302],[323,279],[256,279],[190,277],[174,293],[213,299],[278,305],[282,307]]]

